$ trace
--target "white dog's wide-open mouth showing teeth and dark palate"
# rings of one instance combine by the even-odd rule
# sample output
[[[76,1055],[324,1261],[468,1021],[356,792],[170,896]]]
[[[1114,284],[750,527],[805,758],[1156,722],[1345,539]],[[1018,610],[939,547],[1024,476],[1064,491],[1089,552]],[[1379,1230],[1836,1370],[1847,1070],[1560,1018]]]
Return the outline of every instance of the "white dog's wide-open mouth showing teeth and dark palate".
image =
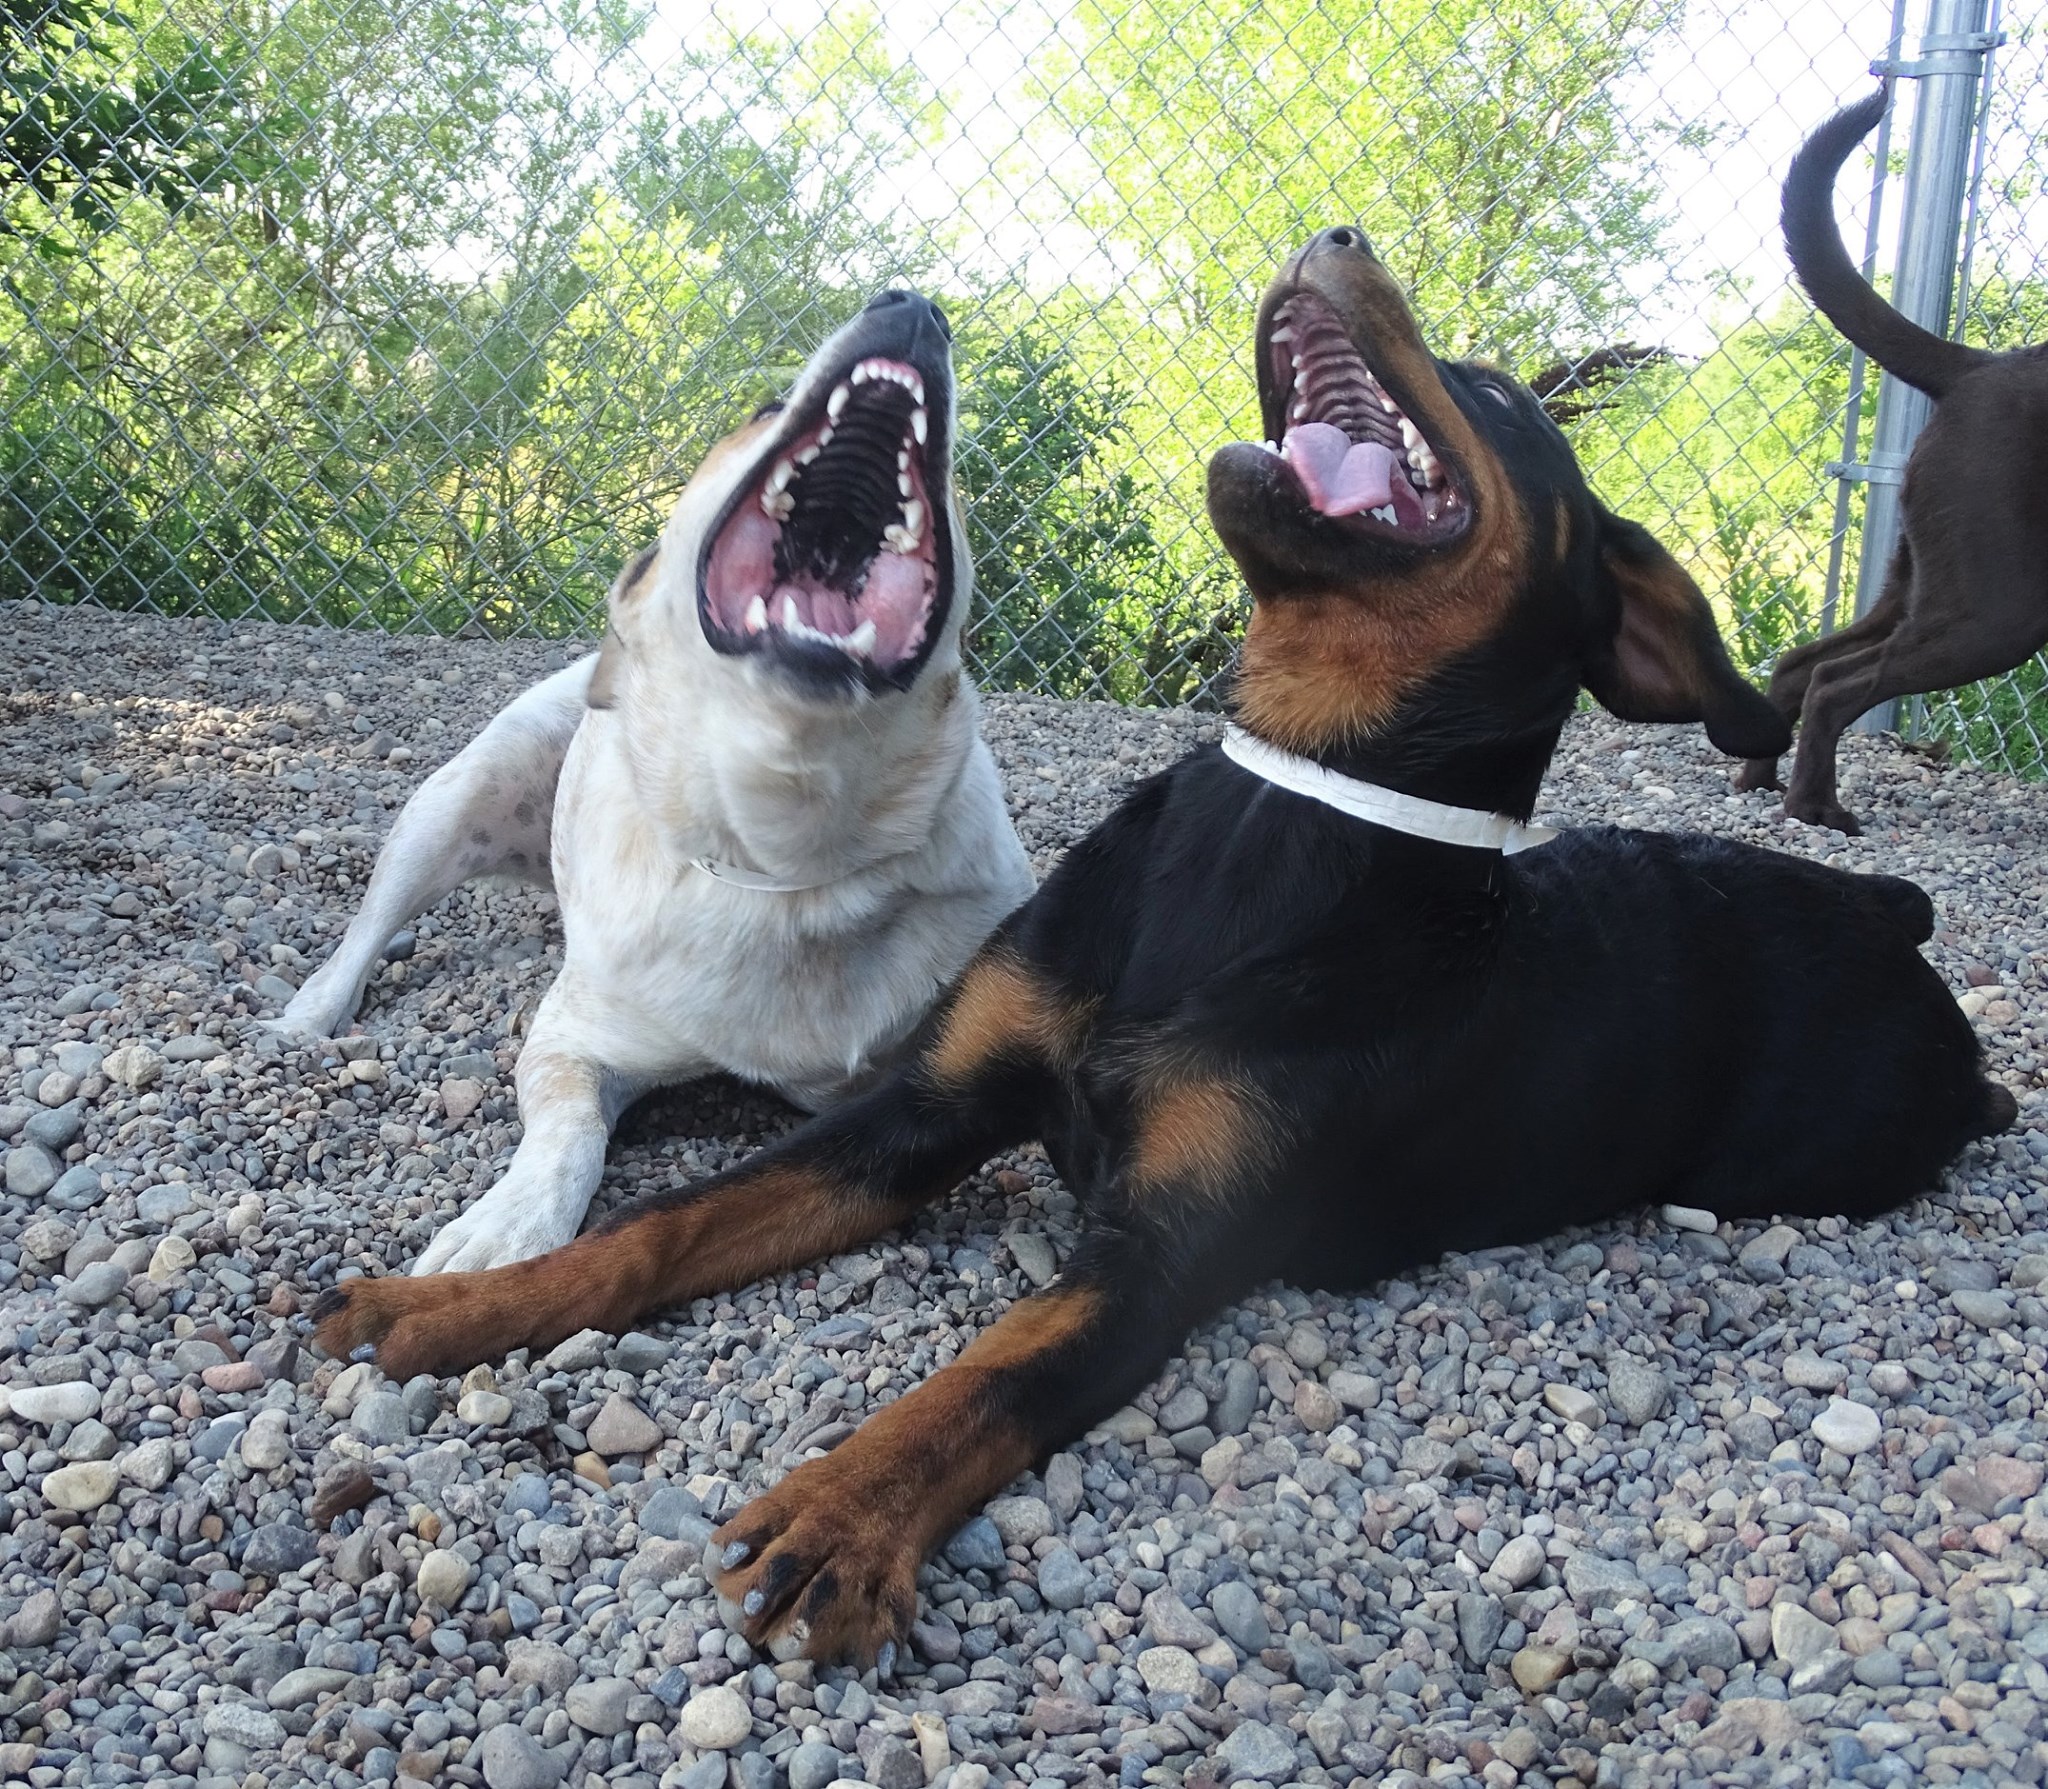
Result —
[[[702,575],[711,643],[772,645],[827,671],[907,673],[942,596],[930,436],[924,375],[858,360],[719,524]]]

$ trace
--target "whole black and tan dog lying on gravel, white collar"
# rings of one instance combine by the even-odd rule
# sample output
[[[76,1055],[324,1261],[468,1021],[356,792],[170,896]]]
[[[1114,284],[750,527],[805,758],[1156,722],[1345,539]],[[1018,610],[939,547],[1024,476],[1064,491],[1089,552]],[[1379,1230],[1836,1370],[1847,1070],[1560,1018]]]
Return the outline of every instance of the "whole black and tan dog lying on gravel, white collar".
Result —
[[[1784,743],[1526,389],[1434,360],[1352,229],[1280,272],[1257,362],[1286,446],[1208,485],[1257,600],[1245,731],[1075,845],[887,1085],[555,1255],[317,1312],[334,1353],[446,1373],[850,1249],[1042,1138],[1087,1208],[1059,1279],[719,1531],[778,1654],[887,1666],[928,1550],[1264,1279],[1649,1199],[1880,1212],[2013,1114],[1911,884],[1659,833],[1526,849],[1581,684]],[[1815,1062],[1839,1097],[1788,1099]]]

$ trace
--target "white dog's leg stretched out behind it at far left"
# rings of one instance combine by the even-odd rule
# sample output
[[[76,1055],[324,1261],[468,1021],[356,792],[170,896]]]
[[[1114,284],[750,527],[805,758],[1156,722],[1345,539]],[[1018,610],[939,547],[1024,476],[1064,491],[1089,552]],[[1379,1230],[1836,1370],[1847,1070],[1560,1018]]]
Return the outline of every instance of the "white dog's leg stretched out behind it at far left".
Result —
[[[596,661],[535,684],[436,770],[399,811],[362,907],[334,956],[272,1021],[299,1038],[332,1038],[362,999],[393,933],[471,876],[510,872],[549,882],[547,839],[555,780]]]

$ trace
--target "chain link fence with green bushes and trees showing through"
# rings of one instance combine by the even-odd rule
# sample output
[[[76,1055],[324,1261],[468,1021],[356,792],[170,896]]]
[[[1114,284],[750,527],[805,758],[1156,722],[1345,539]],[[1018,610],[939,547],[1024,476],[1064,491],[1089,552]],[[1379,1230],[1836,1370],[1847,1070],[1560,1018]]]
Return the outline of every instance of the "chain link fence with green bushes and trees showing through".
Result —
[[[1976,188],[1995,346],[2048,336],[2036,14]],[[1243,610],[1202,465],[1257,428],[1272,266],[1356,219],[1440,350],[1608,375],[1559,399],[1597,489],[1761,669],[1831,559],[1853,590],[1862,501],[1837,524],[1849,362],[1778,180],[1892,33],[1888,0],[6,0],[0,590],[594,635],[700,450],[901,280],[956,323],[983,682],[1212,700]],[[2034,665],[1927,725],[2038,770],[2042,704]]]

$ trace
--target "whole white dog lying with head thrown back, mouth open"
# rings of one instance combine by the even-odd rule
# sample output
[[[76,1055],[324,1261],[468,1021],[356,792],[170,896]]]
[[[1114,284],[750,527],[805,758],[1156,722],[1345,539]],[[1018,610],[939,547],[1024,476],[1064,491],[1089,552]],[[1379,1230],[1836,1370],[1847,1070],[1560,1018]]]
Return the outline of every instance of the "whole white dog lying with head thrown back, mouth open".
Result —
[[[332,1036],[391,935],[471,876],[551,880],[565,933],[518,1058],[518,1154],[414,1271],[569,1242],[653,1087],[848,1093],[1032,892],[961,669],[952,428],[946,319],[885,293],[711,450],[621,573],[604,649],[399,813],[283,1028]]]

